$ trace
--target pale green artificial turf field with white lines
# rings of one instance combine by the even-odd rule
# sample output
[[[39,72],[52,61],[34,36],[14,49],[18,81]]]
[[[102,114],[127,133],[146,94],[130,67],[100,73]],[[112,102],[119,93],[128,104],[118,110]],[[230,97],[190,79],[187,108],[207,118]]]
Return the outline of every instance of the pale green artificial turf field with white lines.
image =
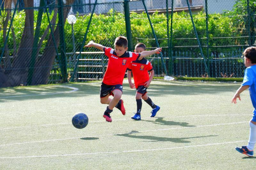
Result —
[[[152,81],[148,96],[161,109],[150,118],[124,80],[123,116],[102,114],[100,82],[0,89],[0,169],[254,169],[256,157],[235,150],[247,144],[252,104],[240,84]],[[89,123],[76,129],[72,116]]]

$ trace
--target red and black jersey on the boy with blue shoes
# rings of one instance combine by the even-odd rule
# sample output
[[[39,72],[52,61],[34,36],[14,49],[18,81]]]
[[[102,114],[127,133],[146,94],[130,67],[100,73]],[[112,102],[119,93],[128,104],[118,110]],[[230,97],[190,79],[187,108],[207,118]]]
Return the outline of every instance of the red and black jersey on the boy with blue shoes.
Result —
[[[153,70],[152,64],[145,58],[129,64],[128,70],[132,71],[136,89],[149,80],[148,71]]]

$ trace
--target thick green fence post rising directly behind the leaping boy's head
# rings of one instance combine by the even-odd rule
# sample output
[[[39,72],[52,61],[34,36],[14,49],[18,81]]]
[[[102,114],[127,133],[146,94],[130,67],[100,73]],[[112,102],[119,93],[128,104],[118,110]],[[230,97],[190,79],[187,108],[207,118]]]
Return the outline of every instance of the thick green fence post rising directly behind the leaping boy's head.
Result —
[[[131,20],[130,20],[130,9],[129,9],[129,1],[124,0],[124,18],[125,18],[125,28],[126,28],[126,36],[128,40],[128,50],[132,51],[132,30],[131,30]]]

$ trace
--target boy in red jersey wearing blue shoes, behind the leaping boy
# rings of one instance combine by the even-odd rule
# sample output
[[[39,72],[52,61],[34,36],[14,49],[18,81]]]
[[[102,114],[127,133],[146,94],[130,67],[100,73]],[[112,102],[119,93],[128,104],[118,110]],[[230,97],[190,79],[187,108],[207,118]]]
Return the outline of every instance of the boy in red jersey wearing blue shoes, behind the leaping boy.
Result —
[[[134,52],[141,53],[146,50],[146,46],[143,43],[138,43],[135,46]],[[150,72],[150,77],[148,75],[148,71]],[[134,78],[134,83],[132,83],[132,74]],[[156,113],[160,109],[159,106],[155,105],[153,101],[147,95],[147,88],[150,85],[153,77],[154,77],[154,69],[152,64],[145,58],[142,60],[132,61],[128,66],[127,71],[128,81],[131,88],[136,87],[136,102],[137,102],[137,113],[131,118],[134,120],[140,120],[140,111],[142,107],[141,98],[148,103],[149,106],[152,107],[151,116],[155,117]]]

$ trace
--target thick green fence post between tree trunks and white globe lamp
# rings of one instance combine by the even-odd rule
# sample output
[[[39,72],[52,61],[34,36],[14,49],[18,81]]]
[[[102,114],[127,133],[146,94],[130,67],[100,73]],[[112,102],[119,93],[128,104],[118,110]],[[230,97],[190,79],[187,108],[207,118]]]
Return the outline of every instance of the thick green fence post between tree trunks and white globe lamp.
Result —
[[[58,0],[58,18],[60,23],[60,58],[62,66],[62,79],[63,82],[68,81],[67,74],[67,57],[66,57],[66,44],[65,44],[65,33],[64,33],[64,18],[63,18],[63,1]]]

